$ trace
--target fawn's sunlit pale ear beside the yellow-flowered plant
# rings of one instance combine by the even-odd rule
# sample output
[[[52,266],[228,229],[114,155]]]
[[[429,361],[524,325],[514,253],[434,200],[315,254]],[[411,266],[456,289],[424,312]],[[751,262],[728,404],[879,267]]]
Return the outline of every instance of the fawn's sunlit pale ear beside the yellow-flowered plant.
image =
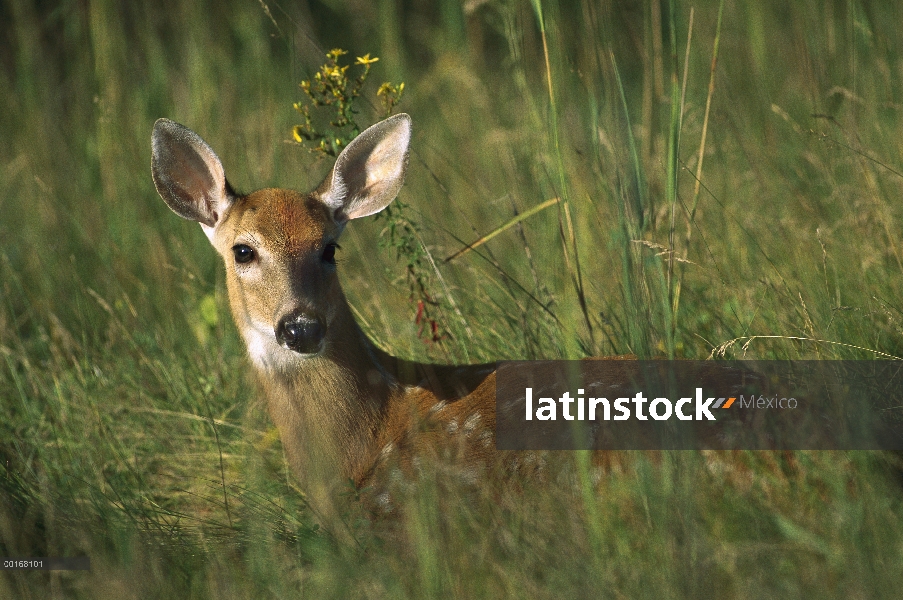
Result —
[[[343,223],[378,213],[404,183],[411,117],[402,113],[370,127],[339,154],[317,195]]]

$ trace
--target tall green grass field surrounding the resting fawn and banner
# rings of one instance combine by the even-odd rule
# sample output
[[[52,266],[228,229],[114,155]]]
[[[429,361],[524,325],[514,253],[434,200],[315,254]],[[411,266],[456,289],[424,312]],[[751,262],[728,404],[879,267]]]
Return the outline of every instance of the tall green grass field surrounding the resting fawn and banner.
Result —
[[[898,597],[876,453],[625,454],[595,484],[565,453],[517,492],[426,465],[398,519],[351,491],[312,513],[150,131],[194,129],[241,190],[312,189],[331,165],[291,142],[298,83],[331,48],[379,56],[443,339],[384,219],[340,270],[406,358],[893,359],[900,23],[853,0],[0,0],[0,555],[92,560],[0,571],[0,597]]]

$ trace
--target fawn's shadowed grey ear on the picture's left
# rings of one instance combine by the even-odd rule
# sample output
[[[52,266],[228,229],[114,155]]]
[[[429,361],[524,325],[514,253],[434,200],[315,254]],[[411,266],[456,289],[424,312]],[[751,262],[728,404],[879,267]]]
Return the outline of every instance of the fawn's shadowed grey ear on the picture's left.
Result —
[[[174,213],[215,227],[232,199],[223,164],[187,127],[157,119],[151,135],[151,171],[157,193]]]

